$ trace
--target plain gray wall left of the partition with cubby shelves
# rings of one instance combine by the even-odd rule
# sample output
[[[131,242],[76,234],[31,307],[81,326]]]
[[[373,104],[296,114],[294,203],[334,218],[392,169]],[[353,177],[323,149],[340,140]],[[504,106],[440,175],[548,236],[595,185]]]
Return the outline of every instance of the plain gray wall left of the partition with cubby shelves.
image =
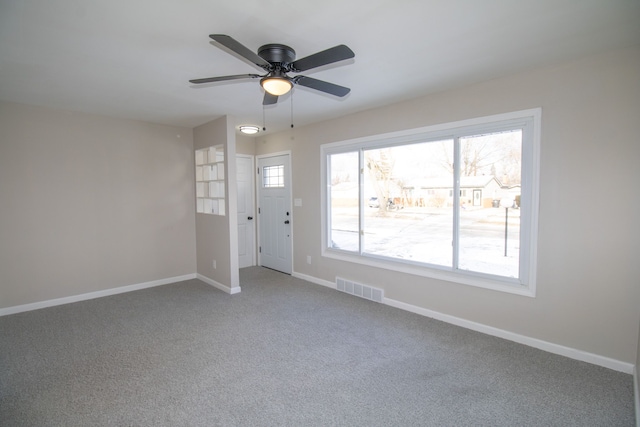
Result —
[[[186,128],[0,103],[0,308],[193,274]]]

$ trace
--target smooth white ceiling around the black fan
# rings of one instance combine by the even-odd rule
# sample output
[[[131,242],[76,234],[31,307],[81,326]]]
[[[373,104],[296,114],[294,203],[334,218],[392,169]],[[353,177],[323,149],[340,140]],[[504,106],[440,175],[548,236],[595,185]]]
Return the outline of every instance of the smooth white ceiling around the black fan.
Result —
[[[640,44],[640,0],[0,0],[0,99],[194,127],[230,114],[262,125],[260,73],[210,43],[227,34],[302,58],[346,44],[352,60],[304,75],[351,88],[296,86],[296,126]],[[289,127],[290,97],[266,107]]]

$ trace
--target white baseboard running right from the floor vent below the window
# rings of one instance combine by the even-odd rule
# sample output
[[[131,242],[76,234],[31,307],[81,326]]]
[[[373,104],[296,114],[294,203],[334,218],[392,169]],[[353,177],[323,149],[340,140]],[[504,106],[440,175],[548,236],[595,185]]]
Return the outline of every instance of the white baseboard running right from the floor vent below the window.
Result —
[[[624,372],[626,374],[632,374],[634,371],[633,364],[611,359],[609,357],[588,353],[586,351],[577,350],[575,348],[565,347],[559,344],[550,343],[548,341],[539,340],[537,338],[527,337],[525,335],[505,331],[504,329],[494,328],[492,326],[487,326],[481,323],[472,322],[470,320],[461,319],[459,317],[451,316],[448,314],[439,313],[437,311],[428,310],[426,308],[407,304],[401,301],[396,301],[390,298],[385,298],[383,300],[383,303],[391,307],[396,307],[402,310],[410,311],[412,313],[420,314],[422,316],[441,320],[452,325],[461,326],[463,328],[471,329],[473,331],[492,335],[498,338],[504,338],[506,340],[528,345],[529,347],[534,347],[540,350],[547,351],[549,353],[558,354],[560,356],[569,357],[571,359],[580,360],[583,362],[591,363],[593,365],[598,365],[605,368],[613,369],[615,371]]]

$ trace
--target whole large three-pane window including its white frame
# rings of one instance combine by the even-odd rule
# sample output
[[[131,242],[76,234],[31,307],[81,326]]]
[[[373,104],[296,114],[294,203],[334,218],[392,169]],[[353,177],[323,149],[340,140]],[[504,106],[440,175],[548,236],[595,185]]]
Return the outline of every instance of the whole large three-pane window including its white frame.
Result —
[[[325,256],[532,295],[540,110],[327,144]]]

